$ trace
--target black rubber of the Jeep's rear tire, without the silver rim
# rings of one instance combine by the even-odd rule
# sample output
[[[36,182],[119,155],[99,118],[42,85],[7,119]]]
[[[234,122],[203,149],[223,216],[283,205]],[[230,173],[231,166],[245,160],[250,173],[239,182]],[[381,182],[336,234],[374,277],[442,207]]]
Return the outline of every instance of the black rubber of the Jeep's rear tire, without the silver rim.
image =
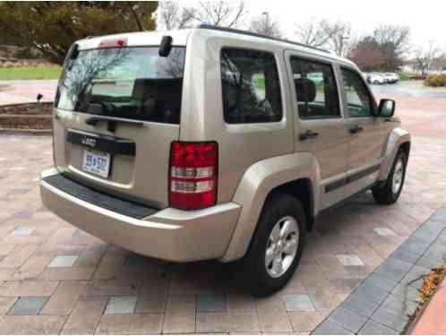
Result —
[[[279,221],[292,217],[297,222],[299,239],[294,260],[279,277],[272,277],[265,265],[265,253],[270,242],[270,233]],[[246,285],[254,296],[266,296],[281,288],[293,276],[299,264],[305,243],[307,226],[302,203],[289,194],[272,194],[265,202],[257,228],[247,254],[244,256]]]

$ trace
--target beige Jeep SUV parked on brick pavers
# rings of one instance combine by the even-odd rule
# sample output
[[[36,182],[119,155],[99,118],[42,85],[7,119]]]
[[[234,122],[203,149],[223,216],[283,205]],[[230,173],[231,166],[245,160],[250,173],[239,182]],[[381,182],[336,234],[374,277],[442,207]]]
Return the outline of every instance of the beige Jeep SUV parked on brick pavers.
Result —
[[[75,42],[54,106],[47,209],[153,258],[241,259],[255,295],[285,286],[323,211],[396,202],[410,150],[352,62],[208,25]]]

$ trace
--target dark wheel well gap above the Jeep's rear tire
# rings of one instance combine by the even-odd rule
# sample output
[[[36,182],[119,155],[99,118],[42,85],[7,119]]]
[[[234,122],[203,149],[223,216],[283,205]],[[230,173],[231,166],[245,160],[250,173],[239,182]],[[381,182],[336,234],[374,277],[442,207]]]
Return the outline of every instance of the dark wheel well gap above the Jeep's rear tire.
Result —
[[[271,194],[284,193],[296,197],[304,207],[308,229],[311,230],[314,224],[313,214],[313,187],[309,178],[300,178],[295,181],[287,182],[283,185],[276,186],[270,191],[267,199]]]

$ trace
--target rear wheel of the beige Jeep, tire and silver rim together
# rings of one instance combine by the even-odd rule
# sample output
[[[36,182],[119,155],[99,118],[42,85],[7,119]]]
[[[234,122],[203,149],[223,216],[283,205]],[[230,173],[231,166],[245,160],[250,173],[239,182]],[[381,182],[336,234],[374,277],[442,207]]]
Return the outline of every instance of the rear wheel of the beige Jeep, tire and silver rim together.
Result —
[[[254,296],[283,288],[293,276],[306,236],[304,208],[288,194],[273,194],[262,210],[244,257],[247,285]]]

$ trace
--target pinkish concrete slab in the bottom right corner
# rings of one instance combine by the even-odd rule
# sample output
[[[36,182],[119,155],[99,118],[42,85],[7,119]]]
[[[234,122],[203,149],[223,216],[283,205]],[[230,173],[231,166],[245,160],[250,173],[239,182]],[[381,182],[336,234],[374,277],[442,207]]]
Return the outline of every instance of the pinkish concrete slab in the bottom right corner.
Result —
[[[446,279],[412,330],[414,335],[446,334]]]

